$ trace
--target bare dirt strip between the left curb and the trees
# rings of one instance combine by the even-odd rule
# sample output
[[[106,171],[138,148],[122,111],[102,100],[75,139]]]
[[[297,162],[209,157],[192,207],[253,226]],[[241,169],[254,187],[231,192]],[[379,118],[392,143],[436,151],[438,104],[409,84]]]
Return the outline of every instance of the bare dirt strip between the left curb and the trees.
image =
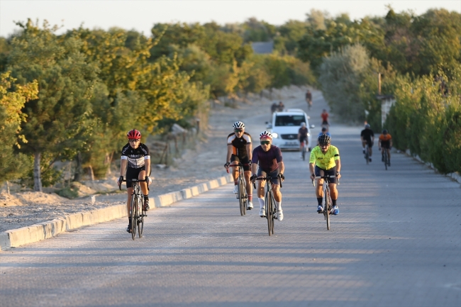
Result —
[[[314,97],[319,94],[318,91],[312,91]],[[206,130],[206,140],[198,141],[194,150],[186,150],[180,159],[174,160],[174,166],[165,169],[154,167],[152,176],[155,179],[150,185],[150,196],[178,191],[225,176],[227,173],[223,164],[226,160],[226,136],[232,132],[232,123],[264,113],[267,113],[269,118],[273,101],[283,101],[285,107],[289,108],[299,104],[299,101],[304,101],[305,92],[306,87],[290,86],[272,91],[272,99],[250,96],[248,101],[240,101],[237,108],[214,104]],[[79,186],[79,195],[87,196],[74,200],[40,192],[2,192],[0,232],[50,221],[71,213],[126,203],[125,191],[114,193],[118,188],[116,179],[114,176],[107,180],[83,182]],[[91,196],[94,196],[94,202],[91,201]]]

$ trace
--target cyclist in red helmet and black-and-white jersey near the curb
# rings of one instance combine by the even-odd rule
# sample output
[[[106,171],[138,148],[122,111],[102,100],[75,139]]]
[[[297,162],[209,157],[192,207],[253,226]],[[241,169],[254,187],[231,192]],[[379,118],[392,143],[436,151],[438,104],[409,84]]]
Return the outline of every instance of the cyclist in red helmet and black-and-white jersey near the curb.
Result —
[[[150,183],[150,155],[149,148],[140,143],[141,133],[136,130],[130,130],[127,133],[128,144],[123,146],[121,153],[121,166],[120,166],[120,177],[118,178],[117,184],[121,185],[123,181],[123,174],[126,174],[126,189],[128,190],[128,201],[126,208],[128,209],[128,228],[126,231],[131,233],[131,216],[130,216],[130,203],[131,194],[133,194],[133,188],[131,179],[145,180],[146,182],[140,182],[141,190],[144,194],[143,209],[149,211],[149,190],[148,182]]]

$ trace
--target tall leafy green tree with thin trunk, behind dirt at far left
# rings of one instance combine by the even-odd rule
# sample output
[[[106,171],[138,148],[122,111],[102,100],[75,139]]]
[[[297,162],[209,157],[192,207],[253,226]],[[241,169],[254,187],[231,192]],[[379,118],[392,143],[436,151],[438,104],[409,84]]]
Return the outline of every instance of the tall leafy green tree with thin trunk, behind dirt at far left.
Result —
[[[34,157],[34,190],[42,190],[41,157],[52,155],[51,163],[71,158],[82,148],[91,131],[91,96],[97,67],[86,61],[82,41],[71,36],[58,38],[48,23],[38,28],[30,20],[18,23],[23,33],[11,41],[8,69],[21,84],[37,80],[38,99],[26,102],[22,124],[28,143],[22,152]]]

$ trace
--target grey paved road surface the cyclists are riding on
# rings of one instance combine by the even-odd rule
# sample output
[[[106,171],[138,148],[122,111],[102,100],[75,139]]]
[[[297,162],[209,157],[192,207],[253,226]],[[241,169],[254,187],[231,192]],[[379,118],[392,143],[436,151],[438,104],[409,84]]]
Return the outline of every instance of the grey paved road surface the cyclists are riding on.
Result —
[[[307,162],[284,152],[274,236],[223,186],[151,211],[142,239],[123,218],[2,252],[1,306],[461,306],[460,184],[403,154],[366,165],[360,128],[331,133],[331,230]]]

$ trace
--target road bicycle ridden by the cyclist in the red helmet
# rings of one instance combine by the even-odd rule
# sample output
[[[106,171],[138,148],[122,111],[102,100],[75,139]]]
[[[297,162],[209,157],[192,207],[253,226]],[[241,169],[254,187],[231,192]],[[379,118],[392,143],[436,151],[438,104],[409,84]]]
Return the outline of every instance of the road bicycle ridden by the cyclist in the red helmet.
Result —
[[[131,187],[133,188],[133,194],[131,194],[131,203],[130,203],[130,211],[128,211],[128,216],[130,216],[130,225],[131,225],[131,238],[135,240],[136,238],[136,226],[138,227],[138,236],[142,238],[143,236],[143,228],[144,228],[144,218],[148,216],[145,214],[143,208],[143,191],[141,190],[140,182],[146,182],[145,180],[139,179],[130,179],[132,182]],[[126,180],[122,180],[122,182],[126,182]],[[121,185],[120,185],[121,189]],[[149,186],[148,186],[149,189]]]

